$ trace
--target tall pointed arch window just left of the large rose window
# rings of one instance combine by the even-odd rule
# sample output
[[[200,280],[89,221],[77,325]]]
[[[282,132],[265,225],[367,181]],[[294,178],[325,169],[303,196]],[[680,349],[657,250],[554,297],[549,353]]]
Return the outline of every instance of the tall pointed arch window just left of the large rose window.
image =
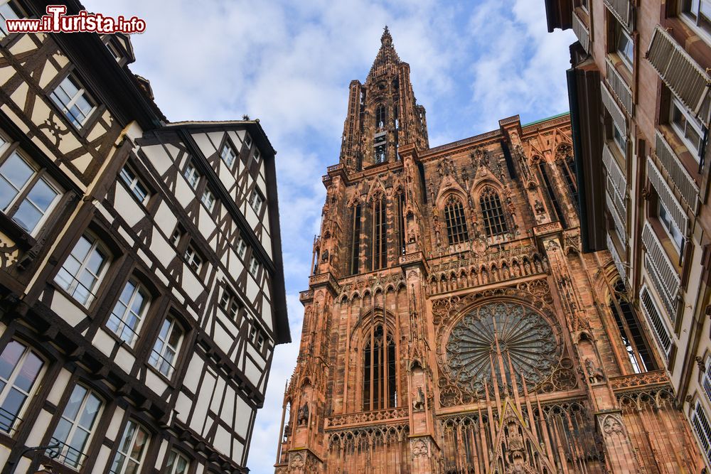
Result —
[[[395,341],[378,324],[366,335],[363,346],[363,411],[396,404]]]

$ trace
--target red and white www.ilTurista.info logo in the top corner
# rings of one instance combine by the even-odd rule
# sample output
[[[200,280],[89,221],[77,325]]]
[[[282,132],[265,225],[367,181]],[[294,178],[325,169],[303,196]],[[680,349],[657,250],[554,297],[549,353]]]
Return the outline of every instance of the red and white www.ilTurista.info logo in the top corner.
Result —
[[[41,18],[8,18],[8,33],[143,33],[146,21],[137,16],[105,16],[85,10],[67,15],[66,5],[48,5],[47,14]]]

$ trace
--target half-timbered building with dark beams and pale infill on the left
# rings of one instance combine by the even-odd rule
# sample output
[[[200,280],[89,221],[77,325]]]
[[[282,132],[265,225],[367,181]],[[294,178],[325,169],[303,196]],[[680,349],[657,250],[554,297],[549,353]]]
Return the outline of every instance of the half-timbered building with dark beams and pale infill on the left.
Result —
[[[0,473],[245,472],[289,341],[262,126],[169,123],[127,36],[0,36]]]

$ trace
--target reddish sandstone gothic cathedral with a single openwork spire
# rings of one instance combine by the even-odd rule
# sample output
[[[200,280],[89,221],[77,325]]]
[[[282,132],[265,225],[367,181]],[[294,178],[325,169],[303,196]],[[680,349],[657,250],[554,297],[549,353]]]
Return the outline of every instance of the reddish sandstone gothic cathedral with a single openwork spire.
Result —
[[[700,473],[641,308],[582,252],[570,117],[429,148],[381,43],[324,176],[276,472]]]

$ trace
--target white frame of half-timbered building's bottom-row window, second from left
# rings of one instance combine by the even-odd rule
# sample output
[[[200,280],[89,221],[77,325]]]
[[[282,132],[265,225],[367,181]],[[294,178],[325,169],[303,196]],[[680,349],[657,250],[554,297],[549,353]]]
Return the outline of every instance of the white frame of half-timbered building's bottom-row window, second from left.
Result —
[[[74,392],[82,388],[86,391],[84,396],[82,397],[82,402],[79,404],[79,409],[77,409],[77,414],[76,416],[72,419],[66,416],[66,411],[69,405],[69,402],[71,400],[71,397],[73,396]],[[96,411],[96,414],[94,415],[94,418],[92,419],[91,426],[81,426],[80,422],[83,419],[83,414],[84,411],[87,407],[87,402],[89,401],[90,397],[93,397],[99,402],[99,409]],[[57,453],[56,459],[58,462],[63,463],[64,465],[68,465],[70,468],[74,469],[80,469],[84,465],[85,457],[87,456],[87,453],[85,452],[87,450],[87,446],[91,445],[92,438],[94,437],[95,429],[98,424],[98,421],[101,419],[101,414],[104,409],[104,401],[102,400],[101,397],[99,397],[96,392],[94,392],[92,389],[89,387],[85,387],[82,384],[76,384],[74,388],[72,389],[72,393],[70,394],[70,398],[67,401],[67,404],[65,405],[62,414],[60,416],[60,423],[61,420],[66,421],[68,424],[71,425],[71,428],[69,429],[67,433],[67,437],[65,438],[64,441],[61,441],[59,438],[56,438],[57,435],[57,429],[59,427],[59,424],[57,427],[55,427],[55,431],[52,434],[52,438],[50,441],[50,444],[59,444],[60,448],[58,450],[52,450],[50,453],[54,452]],[[77,448],[71,446],[71,440],[74,438],[74,436],[77,434],[77,432],[83,432],[87,434],[87,438],[84,440],[84,443],[82,444],[81,450],[77,450]],[[70,457],[70,452],[73,451],[78,451],[79,456],[77,458]]]

